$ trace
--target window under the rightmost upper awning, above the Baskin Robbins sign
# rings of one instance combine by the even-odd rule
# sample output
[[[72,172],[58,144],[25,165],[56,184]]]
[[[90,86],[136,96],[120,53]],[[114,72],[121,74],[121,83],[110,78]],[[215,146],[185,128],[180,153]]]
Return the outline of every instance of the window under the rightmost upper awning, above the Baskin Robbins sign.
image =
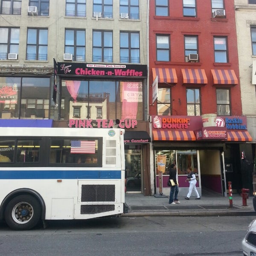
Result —
[[[217,115],[230,116],[230,90],[216,89],[217,96]]]

